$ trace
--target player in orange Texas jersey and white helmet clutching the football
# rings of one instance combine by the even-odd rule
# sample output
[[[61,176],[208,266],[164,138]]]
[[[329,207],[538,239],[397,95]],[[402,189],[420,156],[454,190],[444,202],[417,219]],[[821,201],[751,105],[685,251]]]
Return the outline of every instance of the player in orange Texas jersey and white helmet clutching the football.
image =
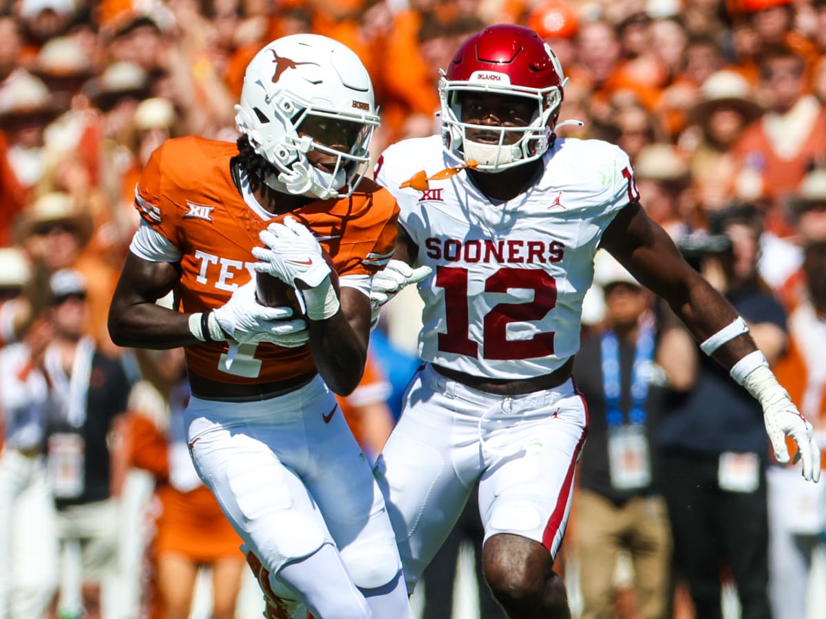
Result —
[[[316,619],[403,619],[387,510],[334,394],[362,375],[371,280],[396,234],[395,200],[363,179],[373,87],[344,45],[290,35],[250,62],[235,109],[237,144],[152,154],[109,329],[121,346],[185,347],[192,461],[268,595]],[[301,318],[259,304],[256,271],[301,289]],[[155,303],[170,291],[177,311]]]

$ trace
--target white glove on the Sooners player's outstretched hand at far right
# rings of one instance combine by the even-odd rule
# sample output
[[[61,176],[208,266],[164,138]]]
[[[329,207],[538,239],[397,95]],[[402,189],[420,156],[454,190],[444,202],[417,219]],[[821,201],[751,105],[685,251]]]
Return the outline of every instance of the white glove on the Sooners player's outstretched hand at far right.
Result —
[[[814,440],[814,428],[800,414],[771,370],[766,366],[757,367],[743,380],[743,387],[763,407],[763,421],[777,461],[781,464],[789,461],[786,447],[786,436],[789,436],[797,443],[795,462],[802,461],[803,477],[815,482],[819,480],[820,450]]]

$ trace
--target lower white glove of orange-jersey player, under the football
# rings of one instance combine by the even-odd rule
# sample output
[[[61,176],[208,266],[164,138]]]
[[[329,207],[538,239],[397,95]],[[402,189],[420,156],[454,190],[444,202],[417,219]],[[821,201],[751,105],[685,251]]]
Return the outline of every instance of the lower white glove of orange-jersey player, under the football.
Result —
[[[310,339],[304,320],[287,320],[292,308],[267,307],[255,300],[255,280],[235,289],[230,300],[213,309],[212,315],[221,329],[240,344],[267,342],[292,348]]]

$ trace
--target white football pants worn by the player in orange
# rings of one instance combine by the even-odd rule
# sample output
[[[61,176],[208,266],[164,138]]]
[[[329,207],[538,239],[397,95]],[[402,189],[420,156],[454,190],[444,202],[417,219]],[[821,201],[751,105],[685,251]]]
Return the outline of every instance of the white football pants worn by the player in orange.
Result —
[[[198,475],[271,573],[334,544],[359,588],[398,574],[382,494],[320,377],[258,402],[192,398],[185,423]]]

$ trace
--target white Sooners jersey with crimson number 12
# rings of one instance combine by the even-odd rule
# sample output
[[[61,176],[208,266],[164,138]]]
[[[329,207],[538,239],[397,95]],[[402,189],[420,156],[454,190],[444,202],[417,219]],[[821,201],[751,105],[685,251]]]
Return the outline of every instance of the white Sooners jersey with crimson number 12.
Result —
[[[548,374],[579,349],[582,299],[615,215],[638,199],[628,155],[607,142],[557,139],[544,172],[513,200],[492,201],[466,172],[401,189],[417,172],[455,167],[438,135],[393,144],[376,180],[396,197],[399,223],[433,269],[425,301],[424,361],[473,376]]]

